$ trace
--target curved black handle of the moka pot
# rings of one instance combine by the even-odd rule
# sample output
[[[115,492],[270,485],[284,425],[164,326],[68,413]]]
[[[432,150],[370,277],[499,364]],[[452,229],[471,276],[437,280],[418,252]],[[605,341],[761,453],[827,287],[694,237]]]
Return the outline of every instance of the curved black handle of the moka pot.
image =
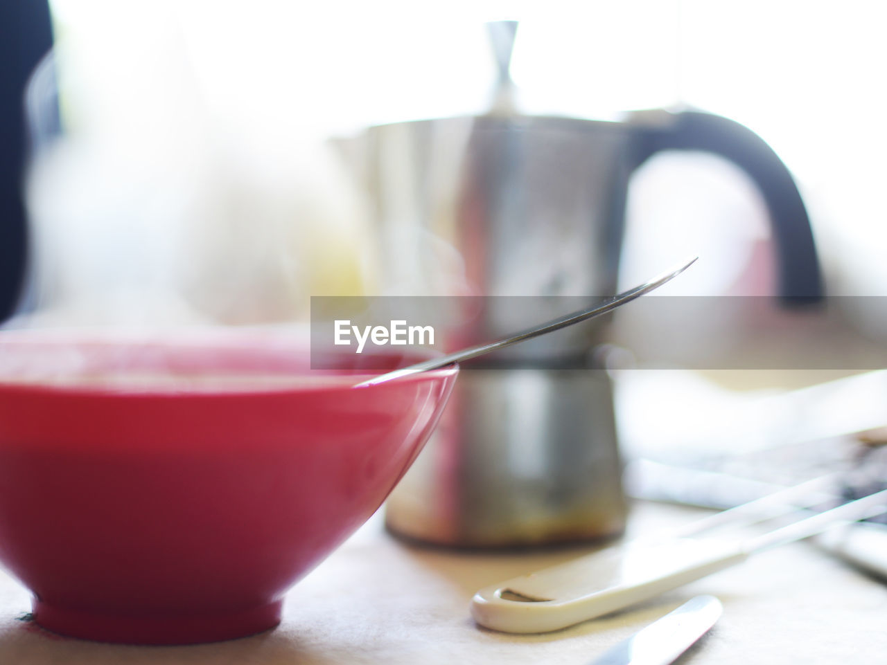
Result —
[[[670,114],[665,123],[640,130],[640,166],[655,152],[706,151],[749,174],[770,212],[779,252],[779,290],[788,303],[822,297],[822,276],[810,218],[789,169],[764,140],[734,120],[703,112]]]

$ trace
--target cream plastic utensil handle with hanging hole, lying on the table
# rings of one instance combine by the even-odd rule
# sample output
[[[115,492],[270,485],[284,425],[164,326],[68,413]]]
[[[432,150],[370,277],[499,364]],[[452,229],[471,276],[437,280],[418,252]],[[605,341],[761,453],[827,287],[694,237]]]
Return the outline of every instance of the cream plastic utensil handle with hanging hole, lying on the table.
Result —
[[[635,541],[482,589],[471,614],[486,628],[510,633],[561,630],[607,615],[745,561],[721,540]]]

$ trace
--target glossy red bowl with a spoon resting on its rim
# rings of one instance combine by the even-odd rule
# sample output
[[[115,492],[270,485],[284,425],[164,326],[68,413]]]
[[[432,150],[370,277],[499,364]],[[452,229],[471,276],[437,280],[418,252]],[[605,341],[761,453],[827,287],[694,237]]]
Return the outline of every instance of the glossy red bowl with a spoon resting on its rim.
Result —
[[[403,476],[457,374],[356,388],[255,336],[0,334],[0,561],[62,634],[270,629]]]

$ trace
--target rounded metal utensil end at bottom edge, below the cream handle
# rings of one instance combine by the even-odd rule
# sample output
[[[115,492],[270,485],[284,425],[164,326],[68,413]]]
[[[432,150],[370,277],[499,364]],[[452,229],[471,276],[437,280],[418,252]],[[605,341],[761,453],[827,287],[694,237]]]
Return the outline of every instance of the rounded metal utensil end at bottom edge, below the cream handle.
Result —
[[[722,612],[714,596],[696,596],[588,665],[669,665],[703,637]]]

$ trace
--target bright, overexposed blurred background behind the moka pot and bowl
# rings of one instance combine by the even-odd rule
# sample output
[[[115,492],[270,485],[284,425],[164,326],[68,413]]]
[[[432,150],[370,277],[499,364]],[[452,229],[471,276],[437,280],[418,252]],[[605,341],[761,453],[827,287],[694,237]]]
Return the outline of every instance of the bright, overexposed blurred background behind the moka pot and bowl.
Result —
[[[310,293],[374,292],[381,257],[326,139],[487,112],[496,67],[483,23],[503,18],[521,21],[522,112],[619,120],[695,107],[737,120],[794,175],[828,293],[887,291],[880,3],[50,8],[66,139],[41,120],[56,100],[38,85],[20,309],[242,323],[303,316]],[[632,179],[620,284],[698,253],[671,293],[769,294],[768,235],[738,169],[664,153]]]

